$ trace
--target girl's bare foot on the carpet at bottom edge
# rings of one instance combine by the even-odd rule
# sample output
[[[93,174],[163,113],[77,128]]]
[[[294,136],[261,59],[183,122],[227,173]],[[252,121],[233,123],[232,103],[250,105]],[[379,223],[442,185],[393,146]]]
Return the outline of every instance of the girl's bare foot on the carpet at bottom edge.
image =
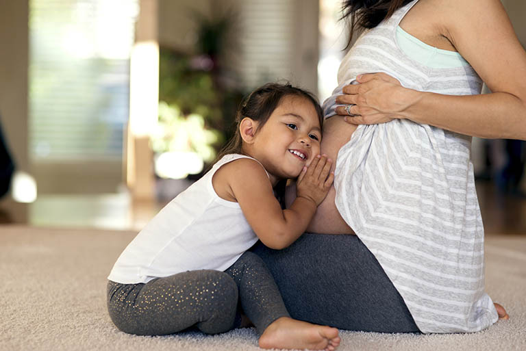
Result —
[[[289,317],[269,325],[260,337],[260,348],[334,351],[340,345],[338,329],[318,326]]]

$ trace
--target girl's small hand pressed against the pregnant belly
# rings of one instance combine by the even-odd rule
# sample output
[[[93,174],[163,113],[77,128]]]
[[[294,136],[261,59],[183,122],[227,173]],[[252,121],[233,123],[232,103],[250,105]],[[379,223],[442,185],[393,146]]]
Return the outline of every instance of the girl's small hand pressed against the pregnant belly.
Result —
[[[334,181],[334,172],[330,172],[331,164],[332,160],[327,159],[327,155],[314,157],[309,167],[304,167],[299,174],[297,197],[314,201],[316,207],[320,205]]]

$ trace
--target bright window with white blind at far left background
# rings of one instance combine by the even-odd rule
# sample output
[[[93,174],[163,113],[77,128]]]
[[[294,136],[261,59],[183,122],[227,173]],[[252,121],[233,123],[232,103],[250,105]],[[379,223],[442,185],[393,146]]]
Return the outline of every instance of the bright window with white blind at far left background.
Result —
[[[29,1],[34,161],[121,161],[137,0]]]

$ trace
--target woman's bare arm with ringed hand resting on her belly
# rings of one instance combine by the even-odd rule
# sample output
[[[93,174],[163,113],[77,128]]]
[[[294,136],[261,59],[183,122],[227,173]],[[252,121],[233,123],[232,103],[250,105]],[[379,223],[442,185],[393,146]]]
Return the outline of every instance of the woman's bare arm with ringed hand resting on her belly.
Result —
[[[526,53],[499,0],[447,0],[440,6],[444,36],[475,68],[492,94],[451,96],[403,88],[384,73],[362,75],[340,103],[358,104],[352,124],[408,118],[482,138],[526,140]],[[347,112],[338,107],[338,114]]]

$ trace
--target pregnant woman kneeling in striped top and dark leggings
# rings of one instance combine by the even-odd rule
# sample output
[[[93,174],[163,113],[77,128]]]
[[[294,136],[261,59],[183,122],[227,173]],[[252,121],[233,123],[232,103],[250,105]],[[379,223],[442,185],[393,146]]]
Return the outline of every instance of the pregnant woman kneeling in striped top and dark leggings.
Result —
[[[499,0],[349,0],[343,10],[364,32],[324,104],[334,189],[309,233],[255,252],[299,320],[487,328],[508,315],[484,292],[468,135],[526,139],[526,53]],[[492,94],[480,94],[482,81]]]

